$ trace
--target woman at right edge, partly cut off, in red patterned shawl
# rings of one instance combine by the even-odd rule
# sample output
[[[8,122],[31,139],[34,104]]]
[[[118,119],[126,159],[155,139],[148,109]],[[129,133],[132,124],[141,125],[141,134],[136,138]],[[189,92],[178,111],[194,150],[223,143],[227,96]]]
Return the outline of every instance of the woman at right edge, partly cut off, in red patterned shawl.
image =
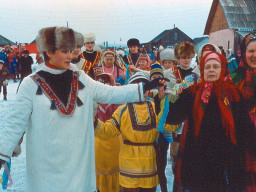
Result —
[[[249,33],[241,42],[239,68],[231,74],[234,84],[242,90],[247,99],[250,118],[256,129],[256,33]],[[256,160],[247,154],[246,171],[249,179],[247,192],[256,191]]]

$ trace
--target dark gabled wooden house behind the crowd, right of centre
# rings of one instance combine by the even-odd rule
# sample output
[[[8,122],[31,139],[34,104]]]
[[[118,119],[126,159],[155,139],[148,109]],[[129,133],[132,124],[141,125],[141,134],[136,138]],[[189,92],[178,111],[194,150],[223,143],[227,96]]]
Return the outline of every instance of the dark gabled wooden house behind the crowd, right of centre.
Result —
[[[144,45],[146,50],[151,51],[153,47],[159,48],[160,45],[162,45],[164,48],[174,48],[177,44],[179,44],[182,41],[190,41],[192,43],[195,43],[189,36],[183,33],[180,29],[174,27],[173,29],[164,30],[154,39],[152,39],[148,43],[143,43],[142,45]]]

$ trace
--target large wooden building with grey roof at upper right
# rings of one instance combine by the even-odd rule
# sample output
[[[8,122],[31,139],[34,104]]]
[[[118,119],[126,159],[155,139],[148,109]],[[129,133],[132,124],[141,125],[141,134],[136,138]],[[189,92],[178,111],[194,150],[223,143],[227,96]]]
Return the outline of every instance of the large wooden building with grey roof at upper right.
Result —
[[[251,31],[256,31],[256,0],[213,0],[204,30],[210,43],[236,52]]]

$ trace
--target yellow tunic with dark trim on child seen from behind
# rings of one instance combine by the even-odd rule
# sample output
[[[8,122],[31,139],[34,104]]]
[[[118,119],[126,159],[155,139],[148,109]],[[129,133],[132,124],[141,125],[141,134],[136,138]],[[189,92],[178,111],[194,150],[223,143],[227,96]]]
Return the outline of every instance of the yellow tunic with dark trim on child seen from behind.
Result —
[[[153,146],[158,138],[157,125],[158,120],[152,102],[124,104],[117,108],[110,120],[105,123],[96,121],[95,135],[108,138],[121,132],[125,141],[119,154],[121,186],[153,188],[158,184],[156,153]],[[165,128],[174,131],[178,127],[173,125]]]

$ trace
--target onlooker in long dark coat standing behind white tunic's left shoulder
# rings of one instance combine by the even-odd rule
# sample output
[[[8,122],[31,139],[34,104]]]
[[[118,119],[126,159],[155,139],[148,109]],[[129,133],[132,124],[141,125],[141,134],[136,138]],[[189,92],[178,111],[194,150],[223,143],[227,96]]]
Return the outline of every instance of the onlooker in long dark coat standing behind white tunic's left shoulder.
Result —
[[[22,80],[32,73],[31,65],[33,64],[33,59],[31,56],[29,56],[28,50],[23,51],[23,56],[21,56],[18,62],[20,67],[20,86]],[[17,91],[19,90],[19,86],[17,88]]]

